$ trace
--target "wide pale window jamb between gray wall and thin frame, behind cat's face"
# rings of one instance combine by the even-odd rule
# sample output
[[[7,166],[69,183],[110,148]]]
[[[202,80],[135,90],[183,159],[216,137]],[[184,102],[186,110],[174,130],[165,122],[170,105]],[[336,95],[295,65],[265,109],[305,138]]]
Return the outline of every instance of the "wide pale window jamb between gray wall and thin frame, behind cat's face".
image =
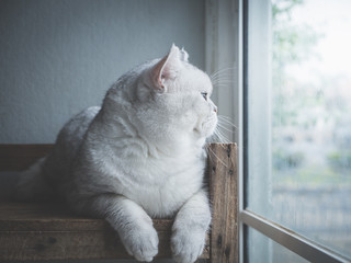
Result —
[[[233,102],[238,101],[240,90],[238,3],[237,0],[206,0],[205,4],[205,69],[210,75],[220,71],[225,77],[225,82],[214,89],[212,99],[220,105],[218,114],[233,119],[236,127],[239,125],[239,105]],[[236,129],[226,134],[231,141],[237,141],[238,136]]]

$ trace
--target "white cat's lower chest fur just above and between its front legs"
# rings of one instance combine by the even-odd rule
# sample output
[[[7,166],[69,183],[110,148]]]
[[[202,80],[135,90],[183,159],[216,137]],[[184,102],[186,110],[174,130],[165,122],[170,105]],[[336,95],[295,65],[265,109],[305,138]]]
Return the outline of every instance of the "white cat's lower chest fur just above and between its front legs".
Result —
[[[135,167],[134,174],[116,181],[117,191],[139,204],[150,216],[172,216],[203,182],[203,164],[159,163],[148,168]]]

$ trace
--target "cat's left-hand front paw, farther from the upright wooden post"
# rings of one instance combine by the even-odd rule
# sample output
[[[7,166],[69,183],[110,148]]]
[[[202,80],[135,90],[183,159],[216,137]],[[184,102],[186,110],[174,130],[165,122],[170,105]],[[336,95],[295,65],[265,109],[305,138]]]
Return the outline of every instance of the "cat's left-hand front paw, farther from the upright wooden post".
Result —
[[[121,239],[127,252],[137,261],[151,262],[158,253],[158,236],[152,225],[131,228]]]

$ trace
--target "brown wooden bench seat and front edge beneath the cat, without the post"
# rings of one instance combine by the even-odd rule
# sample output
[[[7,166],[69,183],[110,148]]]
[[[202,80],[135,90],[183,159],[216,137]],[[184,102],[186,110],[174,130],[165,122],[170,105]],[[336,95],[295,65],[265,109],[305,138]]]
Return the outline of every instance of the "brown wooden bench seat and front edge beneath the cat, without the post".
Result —
[[[157,258],[171,258],[172,219],[154,219]],[[210,258],[210,238],[201,256]],[[0,203],[0,261],[131,259],[103,219],[80,217],[61,204]]]

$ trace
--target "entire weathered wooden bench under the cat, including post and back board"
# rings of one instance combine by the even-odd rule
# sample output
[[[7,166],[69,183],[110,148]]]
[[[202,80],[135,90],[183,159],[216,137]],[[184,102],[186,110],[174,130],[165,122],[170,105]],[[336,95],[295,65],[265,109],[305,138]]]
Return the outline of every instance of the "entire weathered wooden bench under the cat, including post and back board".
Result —
[[[210,145],[213,222],[199,262],[238,262],[236,145]],[[0,145],[0,171],[26,169],[52,145]],[[157,258],[171,258],[172,220],[156,219]],[[75,216],[61,204],[0,202],[0,262],[131,259],[102,219]]]

